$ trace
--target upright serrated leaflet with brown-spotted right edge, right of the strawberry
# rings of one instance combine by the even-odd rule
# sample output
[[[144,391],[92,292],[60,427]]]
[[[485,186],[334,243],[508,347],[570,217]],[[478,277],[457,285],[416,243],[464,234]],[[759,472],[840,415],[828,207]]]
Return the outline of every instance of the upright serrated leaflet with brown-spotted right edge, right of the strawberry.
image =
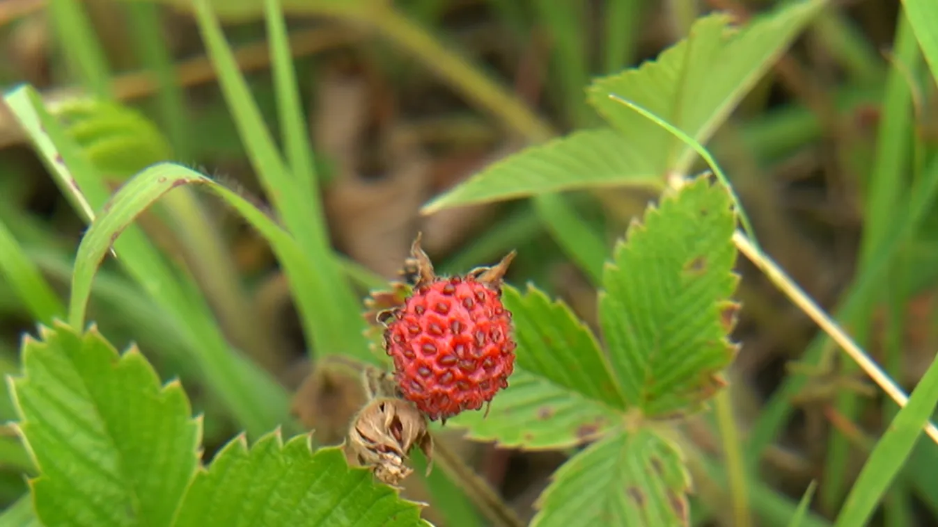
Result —
[[[599,317],[626,401],[649,417],[693,411],[723,386],[737,304],[730,195],[704,178],[649,207],[606,264]]]

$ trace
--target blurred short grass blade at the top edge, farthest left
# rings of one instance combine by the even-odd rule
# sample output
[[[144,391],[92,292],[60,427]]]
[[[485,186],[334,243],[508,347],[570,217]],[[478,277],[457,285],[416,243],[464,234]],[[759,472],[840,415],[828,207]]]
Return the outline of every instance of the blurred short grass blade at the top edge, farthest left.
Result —
[[[102,99],[111,98],[110,67],[82,4],[78,0],[51,0],[49,9],[66,63],[75,68],[88,91]]]

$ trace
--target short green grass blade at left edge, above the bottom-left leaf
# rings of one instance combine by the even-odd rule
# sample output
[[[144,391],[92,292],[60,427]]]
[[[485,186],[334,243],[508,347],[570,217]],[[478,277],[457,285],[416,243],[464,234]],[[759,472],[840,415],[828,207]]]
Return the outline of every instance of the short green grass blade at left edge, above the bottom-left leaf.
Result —
[[[53,318],[65,315],[65,304],[3,222],[0,222],[0,272],[38,322],[52,324]]]

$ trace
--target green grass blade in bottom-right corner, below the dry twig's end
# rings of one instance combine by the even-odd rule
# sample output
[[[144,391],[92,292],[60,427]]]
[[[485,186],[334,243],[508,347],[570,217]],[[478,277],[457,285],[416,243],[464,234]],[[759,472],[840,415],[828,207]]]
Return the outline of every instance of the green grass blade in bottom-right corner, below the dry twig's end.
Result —
[[[893,419],[883,437],[876,442],[870,458],[863,465],[853,489],[840,509],[835,527],[865,525],[879,505],[903,463],[912,453],[922,427],[938,404],[938,360],[918,382],[909,402]]]

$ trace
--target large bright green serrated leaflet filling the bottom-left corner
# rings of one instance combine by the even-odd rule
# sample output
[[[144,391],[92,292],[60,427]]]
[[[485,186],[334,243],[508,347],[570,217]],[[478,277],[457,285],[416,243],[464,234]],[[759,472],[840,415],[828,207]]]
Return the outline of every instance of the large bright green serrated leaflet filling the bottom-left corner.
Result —
[[[118,355],[97,329],[56,323],[23,340],[10,388],[37,463],[39,520],[56,525],[170,525],[198,465],[200,425],[177,382],[136,348]]]

